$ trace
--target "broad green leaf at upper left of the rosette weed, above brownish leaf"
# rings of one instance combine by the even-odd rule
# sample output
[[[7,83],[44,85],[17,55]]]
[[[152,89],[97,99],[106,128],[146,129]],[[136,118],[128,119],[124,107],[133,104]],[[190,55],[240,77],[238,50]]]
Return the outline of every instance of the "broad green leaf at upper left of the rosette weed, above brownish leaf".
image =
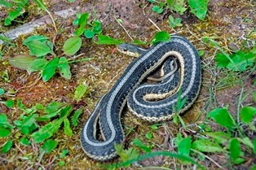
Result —
[[[28,41],[24,45],[29,47],[30,55],[36,55],[37,57],[41,57],[46,54],[52,54],[51,48],[42,41]]]

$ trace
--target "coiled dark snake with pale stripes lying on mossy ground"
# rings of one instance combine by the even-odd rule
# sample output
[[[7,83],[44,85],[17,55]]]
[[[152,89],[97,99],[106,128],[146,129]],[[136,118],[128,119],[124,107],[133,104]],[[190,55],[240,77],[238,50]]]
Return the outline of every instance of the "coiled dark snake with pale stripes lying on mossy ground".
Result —
[[[130,46],[128,49],[121,45],[119,47],[125,52],[130,51]],[[175,114],[187,111],[199,94],[201,59],[187,38],[172,35],[169,41],[159,42],[148,50],[136,46],[130,49],[137,50],[139,57],[130,63],[108,93],[99,99],[82,129],[82,149],[90,159],[108,161],[117,158],[115,145],[124,142],[125,138],[121,113],[126,105],[139,119],[166,121]],[[149,83],[147,77],[160,68],[167,70],[163,71],[164,74],[168,74],[168,70],[172,73],[159,82]],[[184,101],[181,106],[180,101]],[[99,134],[97,136],[97,129],[101,138]]]

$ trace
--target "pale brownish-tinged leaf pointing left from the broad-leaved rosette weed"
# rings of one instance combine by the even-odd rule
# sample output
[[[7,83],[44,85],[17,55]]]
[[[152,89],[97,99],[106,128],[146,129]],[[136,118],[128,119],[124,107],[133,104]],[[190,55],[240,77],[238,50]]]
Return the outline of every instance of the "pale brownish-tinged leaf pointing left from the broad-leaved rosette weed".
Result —
[[[11,64],[11,66],[13,66],[15,68],[28,70],[29,65],[31,63],[33,63],[34,59],[36,59],[36,58],[33,56],[30,56],[28,54],[20,54],[20,55],[17,55],[15,57],[9,59],[9,63]]]

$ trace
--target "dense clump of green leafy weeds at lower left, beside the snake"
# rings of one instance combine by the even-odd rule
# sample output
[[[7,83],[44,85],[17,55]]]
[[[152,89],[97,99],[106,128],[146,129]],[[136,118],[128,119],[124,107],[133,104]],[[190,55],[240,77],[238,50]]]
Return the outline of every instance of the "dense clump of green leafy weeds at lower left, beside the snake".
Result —
[[[3,102],[7,107],[14,107],[14,101],[10,104],[9,100]],[[41,104],[36,104],[31,108],[26,108],[22,102],[18,99],[16,106],[22,111],[22,114],[17,120],[14,120],[12,125],[7,120],[5,114],[0,114],[0,137],[5,137],[7,143],[3,146],[2,152],[7,153],[12,145],[11,132],[15,133],[15,138],[19,137],[20,144],[24,146],[30,146],[30,140],[33,139],[35,143],[42,143],[42,154],[50,153],[58,143],[51,137],[61,128],[61,124],[64,124],[64,133],[67,137],[73,136],[71,124],[68,120],[69,115],[73,112],[73,107],[62,102],[51,102],[46,107]],[[72,125],[77,126],[77,120],[81,115],[83,108],[77,109],[72,116]],[[40,122],[45,122],[44,126],[39,126]],[[19,129],[13,131],[11,129]],[[9,138],[9,139],[8,139]]]

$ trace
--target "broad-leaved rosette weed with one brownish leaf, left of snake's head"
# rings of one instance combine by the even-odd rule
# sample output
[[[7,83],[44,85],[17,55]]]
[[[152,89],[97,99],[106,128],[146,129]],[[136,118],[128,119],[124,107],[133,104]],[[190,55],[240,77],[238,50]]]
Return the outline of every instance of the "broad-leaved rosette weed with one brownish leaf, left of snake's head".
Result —
[[[60,76],[65,79],[71,79],[69,63],[86,61],[87,59],[69,62],[67,57],[58,57],[53,52],[54,46],[48,37],[35,35],[30,36],[23,41],[24,46],[28,46],[29,54],[17,55],[9,60],[9,63],[15,68],[25,69],[28,72],[41,72],[42,80],[49,81],[55,75],[57,68]],[[76,54],[82,46],[80,37],[71,37],[64,42],[63,51],[66,55]],[[46,59],[46,55],[51,54],[53,59]]]

